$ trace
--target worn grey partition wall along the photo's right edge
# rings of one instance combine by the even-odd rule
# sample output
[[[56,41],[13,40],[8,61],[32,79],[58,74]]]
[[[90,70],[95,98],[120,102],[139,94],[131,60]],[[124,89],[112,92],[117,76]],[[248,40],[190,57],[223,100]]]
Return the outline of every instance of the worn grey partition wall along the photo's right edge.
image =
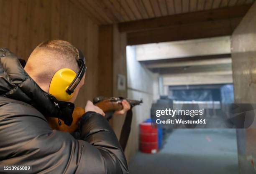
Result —
[[[256,3],[231,37],[234,99],[236,103],[256,103]],[[256,169],[256,130],[238,129],[239,174]]]

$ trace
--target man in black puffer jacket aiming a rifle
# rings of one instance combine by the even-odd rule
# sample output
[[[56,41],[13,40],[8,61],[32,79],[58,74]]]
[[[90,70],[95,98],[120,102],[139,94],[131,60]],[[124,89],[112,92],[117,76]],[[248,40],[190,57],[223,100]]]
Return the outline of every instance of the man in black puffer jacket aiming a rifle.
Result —
[[[79,71],[79,55],[66,41],[47,41],[33,50],[24,71],[13,53],[0,48],[1,170],[12,165],[31,166],[34,174],[128,174],[118,139],[92,102],[87,102],[76,139],[52,130],[44,117],[65,120],[72,113],[85,73],[69,102],[49,94],[49,86],[59,69]],[[117,113],[129,107],[124,101]]]

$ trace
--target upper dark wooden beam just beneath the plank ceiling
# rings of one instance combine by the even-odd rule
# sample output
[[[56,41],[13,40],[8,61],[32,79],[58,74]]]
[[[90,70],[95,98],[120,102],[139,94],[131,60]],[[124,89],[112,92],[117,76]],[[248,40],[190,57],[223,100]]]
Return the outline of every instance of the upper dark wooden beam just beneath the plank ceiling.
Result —
[[[202,23],[227,18],[238,18],[243,17],[250,7],[251,5],[240,5],[194,13],[184,13],[179,15],[151,18],[146,20],[136,20],[119,23],[118,28],[120,32],[130,33],[141,30],[172,27],[177,25],[187,25],[193,23]]]

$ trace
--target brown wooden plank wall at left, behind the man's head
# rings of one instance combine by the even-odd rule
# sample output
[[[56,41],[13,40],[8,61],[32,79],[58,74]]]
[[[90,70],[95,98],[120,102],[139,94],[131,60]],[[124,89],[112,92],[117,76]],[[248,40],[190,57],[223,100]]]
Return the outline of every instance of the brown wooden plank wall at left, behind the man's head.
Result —
[[[0,47],[23,59],[45,40],[67,40],[87,58],[85,86],[77,106],[97,95],[98,25],[69,0],[0,0]]]

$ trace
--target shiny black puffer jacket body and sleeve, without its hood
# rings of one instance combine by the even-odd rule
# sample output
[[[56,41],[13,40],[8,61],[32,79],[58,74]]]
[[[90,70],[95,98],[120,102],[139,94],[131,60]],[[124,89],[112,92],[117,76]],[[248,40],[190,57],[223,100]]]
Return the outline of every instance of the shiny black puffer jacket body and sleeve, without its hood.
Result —
[[[77,140],[52,130],[29,105],[0,103],[0,113],[0,166],[30,165],[31,174],[128,174],[120,144],[100,114],[85,114]]]

